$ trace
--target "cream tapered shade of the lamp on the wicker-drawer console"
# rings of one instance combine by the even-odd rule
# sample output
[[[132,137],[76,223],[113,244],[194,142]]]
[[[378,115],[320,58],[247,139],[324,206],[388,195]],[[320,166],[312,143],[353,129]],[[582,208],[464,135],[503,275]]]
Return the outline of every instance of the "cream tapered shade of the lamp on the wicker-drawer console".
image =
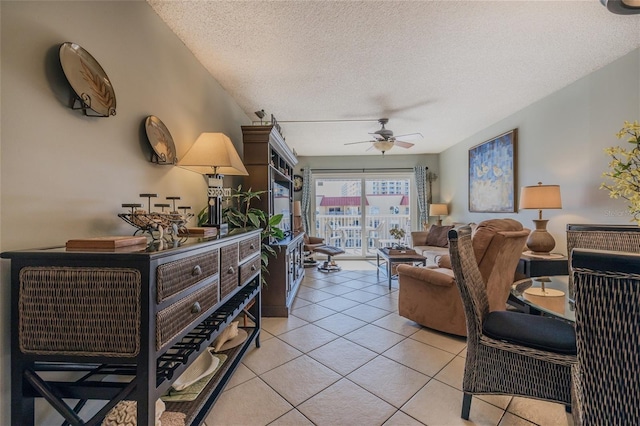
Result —
[[[203,175],[249,174],[231,139],[224,133],[202,133],[178,165]]]

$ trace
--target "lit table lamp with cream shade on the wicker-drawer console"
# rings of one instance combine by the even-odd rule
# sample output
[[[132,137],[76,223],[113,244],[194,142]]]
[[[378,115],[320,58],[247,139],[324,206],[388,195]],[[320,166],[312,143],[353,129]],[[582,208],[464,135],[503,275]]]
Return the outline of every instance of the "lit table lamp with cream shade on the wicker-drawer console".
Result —
[[[231,139],[223,133],[202,133],[178,165],[206,176],[209,214],[203,226],[218,228],[220,235],[225,235],[227,225],[222,223],[222,196],[230,195],[231,189],[222,187],[223,177],[249,174]]]

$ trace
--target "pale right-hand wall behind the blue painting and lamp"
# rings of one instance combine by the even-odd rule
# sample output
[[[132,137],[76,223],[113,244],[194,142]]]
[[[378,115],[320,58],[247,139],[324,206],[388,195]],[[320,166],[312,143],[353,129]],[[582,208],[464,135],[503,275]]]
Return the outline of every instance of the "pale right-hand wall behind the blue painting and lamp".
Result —
[[[534,229],[536,210],[469,212],[469,148],[518,128],[516,198],[521,186],[539,181],[561,188],[562,210],[543,211],[556,240],[554,251],[566,253],[568,223],[629,224],[632,217],[625,200],[612,200],[599,189],[609,162],[603,149],[626,144],[615,136],[625,120],[640,120],[640,49],[443,152],[439,182],[441,199],[450,207],[448,221],[511,217]]]

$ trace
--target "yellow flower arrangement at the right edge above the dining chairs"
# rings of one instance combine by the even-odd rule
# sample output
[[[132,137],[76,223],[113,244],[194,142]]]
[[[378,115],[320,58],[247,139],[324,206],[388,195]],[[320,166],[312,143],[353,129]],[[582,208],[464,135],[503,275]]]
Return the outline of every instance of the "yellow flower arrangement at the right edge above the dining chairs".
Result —
[[[602,177],[609,178],[612,183],[603,182],[601,189],[607,189],[611,198],[624,198],[629,201],[629,212],[640,225],[640,124],[638,121],[624,122],[624,127],[616,134],[618,139],[628,136],[627,142],[633,148],[627,150],[621,146],[605,148],[604,152],[611,157],[608,172]]]

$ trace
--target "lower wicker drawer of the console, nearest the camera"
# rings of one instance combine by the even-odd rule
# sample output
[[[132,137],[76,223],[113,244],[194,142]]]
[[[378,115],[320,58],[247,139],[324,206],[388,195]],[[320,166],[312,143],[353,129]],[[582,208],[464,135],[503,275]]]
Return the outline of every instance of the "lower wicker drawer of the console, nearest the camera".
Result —
[[[180,299],[156,314],[156,349],[188,328],[218,303],[218,280]]]

